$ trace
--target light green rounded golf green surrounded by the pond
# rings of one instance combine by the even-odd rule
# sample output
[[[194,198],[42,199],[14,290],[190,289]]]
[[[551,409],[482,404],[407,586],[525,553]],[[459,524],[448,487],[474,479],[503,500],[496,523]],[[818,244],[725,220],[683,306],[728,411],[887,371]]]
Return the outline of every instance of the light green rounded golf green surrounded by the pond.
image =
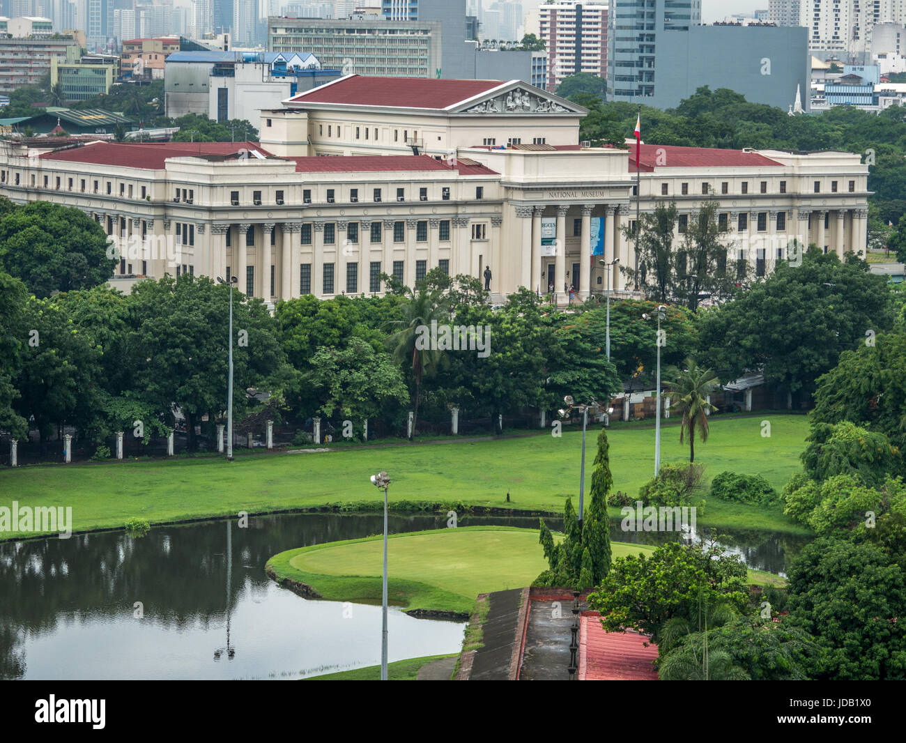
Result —
[[[612,544],[614,559],[653,550]],[[406,609],[469,613],[479,593],[529,585],[547,568],[538,532],[512,526],[390,535],[387,551],[388,601]],[[381,536],[299,547],[267,564],[279,577],[308,584],[325,599],[381,601]]]

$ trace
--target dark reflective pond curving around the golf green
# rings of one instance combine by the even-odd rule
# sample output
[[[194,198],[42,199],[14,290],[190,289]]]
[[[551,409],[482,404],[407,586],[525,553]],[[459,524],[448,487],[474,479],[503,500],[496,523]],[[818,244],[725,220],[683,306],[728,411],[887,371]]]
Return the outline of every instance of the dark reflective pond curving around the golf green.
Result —
[[[390,531],[446,523],[390,516]],[[458,524],[536,528],[538,520],[461,516]],[[234,519],[159,526],[139,539],[105,532],[2,543],[0,679],[293,679],[375,665],[380,606],[306,601],[264,566],[285,549],[382,528],[380,515],[284,514],[250,517],[247,528]],[[612,539],[627,541],[618,528]],[[771,572],[783,572],[805,541],[721,533],[751,567]],[[457,652],[463,627],[391,607],[390,661]]]

